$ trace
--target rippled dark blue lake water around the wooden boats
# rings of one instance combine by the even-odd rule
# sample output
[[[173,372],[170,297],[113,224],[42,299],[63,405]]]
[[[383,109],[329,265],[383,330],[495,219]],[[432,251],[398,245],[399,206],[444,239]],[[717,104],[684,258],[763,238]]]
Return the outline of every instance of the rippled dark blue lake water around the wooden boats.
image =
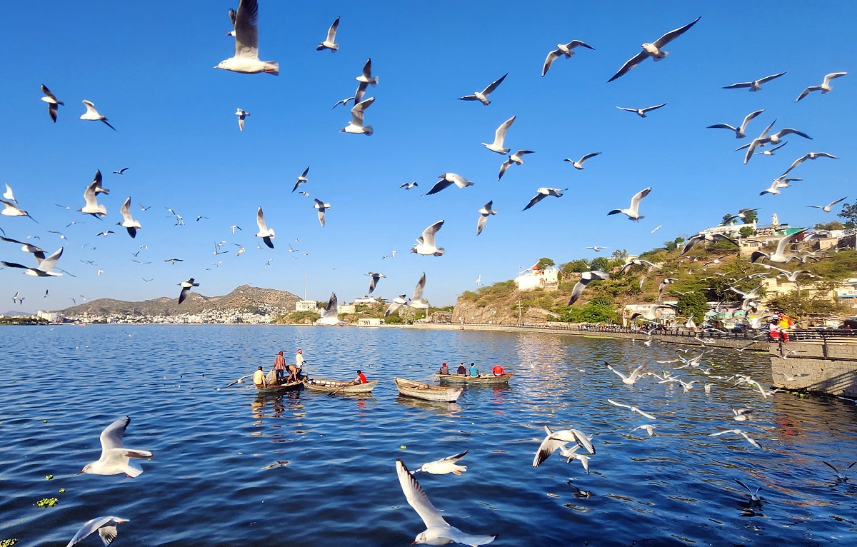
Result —
[[[452,526],[499,534],[496,545],[857,544],[857,486],[822,464],[857,460],[857,405],[763,399],[718,380],[710,393],[651,377],[629,387],[602,365],[660,371],[678,366],[655,364],[674,358],[675,346],[268,326],[8,327],[0,346],[0,540],[21,546],[64,545],[100,515],[130,519],[117,547],[407,545],[424,526],[395,460],[412,469],[465,448],[463,475],[419,480]],[[363,398],[225,388],[259,364],[270,369],[279,350],[291,362],[297,347],[310,376],[351,379],[360,368],[381,382]],[[421,379],[441,361],[483,371],[499,363],[518,375],[507,388],[467,388],[457,404],[397,394],[393,376]],[[761,354],[717,350],[703,366],[770,385]],[[730,405],[754,418],[735,422]],[[140,460],[144,472],[75,476],[99,458],[100,431],[126,414],[125,446],[154,453]],[[559,453],[533,469],[546,424],[593,436],[589,474]],[[655,436],[630,432],[640,424],[655,425]],[[733,427],[762,448],[709,436]],[[850,472],[857,484],[857,466]],[[763,485],[761,505],[734,479]],[[51,497],[56,506],[36,506]]]

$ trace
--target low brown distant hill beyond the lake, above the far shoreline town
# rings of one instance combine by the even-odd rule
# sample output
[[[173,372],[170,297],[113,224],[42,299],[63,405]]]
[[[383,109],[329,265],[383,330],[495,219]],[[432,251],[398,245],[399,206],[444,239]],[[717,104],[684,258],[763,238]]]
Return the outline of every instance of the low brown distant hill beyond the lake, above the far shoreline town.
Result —
[[[63,311],[65,316],[90,315],[137,315],[165,316],[179,314],[197,314],[204,310],[255,312],[269,308],[287,308],[294,310],[300,300],[291,292],[265,289],[249,285],[236,287],[229,294],[219,297],[207,297],[197,292],[189,292],[188,298],[178,305],[178,298],[154,298],[142,302],[125,302],[112,298],[99,298],[85,304],[78,304]]]

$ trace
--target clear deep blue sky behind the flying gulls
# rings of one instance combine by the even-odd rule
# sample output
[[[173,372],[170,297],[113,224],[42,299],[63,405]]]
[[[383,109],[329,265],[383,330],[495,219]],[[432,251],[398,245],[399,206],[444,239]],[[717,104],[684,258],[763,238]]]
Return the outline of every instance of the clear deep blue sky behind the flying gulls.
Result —
[[[593,256],[583,250],[589,245],[642,252],[716,225],[741,207],[761,207],[764,221],[778,213],[792,225],[834,219],[806,206],[854,193],[857,4],[660,5],[650,12],[632,2],[534,3],[526,9],[512,2],[490,9],[480,3],[403,8],[327,2],[296,9],[261,0],[261,58],[279,60],[276,77],[213,69],[233,52],[225,36],[231,2],[182,2],[169,9],[106,1],[87,9],[66,2],[16,5],[17,22],[5,29],[11,55],[0,89],[0,188],[9,183],[39,224],[0,217],[0,228],[16,239],[40,237],[36,243],[49,253],[64,245],[58,267],[77,277],[37,279],[0,270],[0,298],[9,298],[0,310],[13,309],[16,291],[27,297],[21,310],[64,308],[80,295],[176,297],[177,283],[189,277],[212,296],[243,283],[302,295],[304,274],[309,298],[337,292],[342,302],[367,292],[363,274],[369,271],[387,274],[375,291],[386,298],[410,294],[424,271],[426,297],[443,305],[475,288],[478,275],[483,284],[507,280],[519,264],[541,256],[557,262]],[[698,24],[668,45],[665,60],[646,60],[605,83],[640,44],[698,15]],[[339,51],[315,51],[337,16]],[[548,51],[572,39],[596,51],[578,49],[540,77]],[[367,94],[376,98],[366,114],[375,135],[341,134],[350,113],[331,106],[353,94],[368,57],[381,79]],[[759,93],[721,89],[784,70],[788,74]],[[833,92],[794,103],[801,90],[835,71],[852,74],[834,81]],[[506,72],[491,105],[457,100]],[[39,100],[42,83],[65,102],[57,123]],[[78,119],[85,110],[81,99],[92,100],[117,132]],[[645,119],[615,108],[660,103],[668,105]],[[243,133],[238,107],[251,114]],[[775,129],[800,129],[813,140],[789,139],[776,156],[742,165],[742,154],[732,150],[750,138],[705,129],[738,124],[761,108],[750,138],[776,117]],[[491,141],[512,115],[518,118],[506,146],[536,153],[498,182],[504,157],[480,142]],[[598,151],[584,171],[562,161]],[[842,159],[806,162],[794,171],[804,181],[782,195],[758,195],[810,151]],[[332,205],[324,228],[313,201],[291,193],[307,165],[310,182],[302,189]],[[121,167],[129,167],[123,177],[111,174]],[[75,212],[96,169],[111,190],[99,196],[108,211],[104,221]],[[476,184],[420,197],[447,171]],[[411,181],[419,187],[399,189]],[[652,191],[638,225],[607,216],[647,186]],[[522,212],[539,187],[569,190]],[[134,240],[116,225],[129,195],[142,224]],[[488,200],[500,213],[476,237],[476,209]],[[137,203],[151,208],[141,212]],[[256,249],[260,205],[277,233],[276,249]],[[182,214],[186,225],[174,225],[165,207]],[[208,218],[196,221],[198,215]],[[410,254],[414,239],[439,219],[446,219],[438,234],[446,255]],[[73,220],[78,224],[66,227]],[[243,231],[233,235],[233,224]],[[95,237],[107,229],[116,233]],[[69,241],[48,230],[62,231]],[[213,255],[219,241],[228,242],[230,254]],[[297,252],[289,252],[290,242]],[[236,257],[231,243],[247,251]],[[151,264],[131,261],[144,244],[148,249],[138,260]],[[399,251],[395,258],[381,260],[392,250]],[[163,262],[172,257],[184,261]],[[9,243],[0,245],[0,258],[34,265]],[[45,289],[48,298],[42,298]]]

